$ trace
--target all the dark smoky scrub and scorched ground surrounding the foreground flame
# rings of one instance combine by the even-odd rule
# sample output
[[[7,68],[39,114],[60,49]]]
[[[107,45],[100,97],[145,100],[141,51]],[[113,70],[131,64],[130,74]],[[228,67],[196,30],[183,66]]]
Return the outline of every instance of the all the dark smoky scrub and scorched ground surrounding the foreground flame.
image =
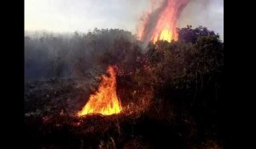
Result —
[[[202,26],[178,34],[147,49],[116,29],[26,35],[27,147],[222,148],[224,43]],[[109,65],[131,110],[75,117]]]

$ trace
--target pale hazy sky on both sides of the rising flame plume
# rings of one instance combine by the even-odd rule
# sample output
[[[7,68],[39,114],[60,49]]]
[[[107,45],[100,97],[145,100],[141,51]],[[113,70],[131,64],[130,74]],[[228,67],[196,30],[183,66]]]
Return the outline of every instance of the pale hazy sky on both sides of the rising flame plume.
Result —
[[[190,0],[177,26],[207,26],[223,37],[224,0]],[[25,0],[25,30],[88,32],[95,27],[136,33],[150,0]]]

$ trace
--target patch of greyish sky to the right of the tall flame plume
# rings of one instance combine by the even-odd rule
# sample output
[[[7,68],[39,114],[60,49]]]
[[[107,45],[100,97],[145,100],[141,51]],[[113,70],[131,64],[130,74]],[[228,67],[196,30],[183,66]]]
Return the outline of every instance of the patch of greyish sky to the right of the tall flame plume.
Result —
[[[177,20],[177,27],[206,26],[224,40],[224,0],[190,0]]]

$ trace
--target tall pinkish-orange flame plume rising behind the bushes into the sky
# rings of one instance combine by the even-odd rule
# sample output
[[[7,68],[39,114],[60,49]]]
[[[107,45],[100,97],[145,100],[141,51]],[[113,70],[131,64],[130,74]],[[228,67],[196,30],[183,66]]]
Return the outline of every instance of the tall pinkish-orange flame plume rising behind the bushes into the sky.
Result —
[[[156,1],[151,1],[154,5]],[[141,41],[177,41],[176,23],[180,10],[189,0],[164,0],[158,9],[143,16],[143,26],[137,32]]]

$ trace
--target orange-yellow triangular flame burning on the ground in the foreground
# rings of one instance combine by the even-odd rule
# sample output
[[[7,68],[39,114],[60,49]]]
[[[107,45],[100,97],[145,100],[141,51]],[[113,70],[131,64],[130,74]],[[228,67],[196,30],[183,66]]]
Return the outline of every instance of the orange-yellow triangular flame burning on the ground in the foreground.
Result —
[[[110,77],[102,75],[98,91],[95,95],[90,95],[88,102],[78,113],[79,117],[92,113],[112,115],[121,112],[122,107],[116,95],[116,72],[113,66],[108,67],[108,73]]]

